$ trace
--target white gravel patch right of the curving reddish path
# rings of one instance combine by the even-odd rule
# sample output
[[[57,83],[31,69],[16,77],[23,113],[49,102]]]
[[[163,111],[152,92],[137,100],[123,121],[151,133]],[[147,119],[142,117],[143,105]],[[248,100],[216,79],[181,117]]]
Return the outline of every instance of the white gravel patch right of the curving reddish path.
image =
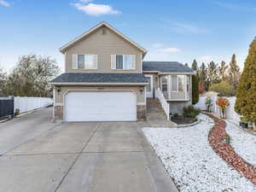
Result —
[[[256,166],[256,136],[242,131],[236,125],[226,121],[226,132],[231,138],[230,145],[242,159]]]

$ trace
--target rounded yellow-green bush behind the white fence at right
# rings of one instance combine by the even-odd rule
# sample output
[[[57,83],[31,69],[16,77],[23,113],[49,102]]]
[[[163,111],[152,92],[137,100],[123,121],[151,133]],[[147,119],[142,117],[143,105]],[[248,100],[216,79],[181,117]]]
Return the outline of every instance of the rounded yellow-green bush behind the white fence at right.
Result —
[[[218,96],[234,96],[233,86],[225,81],[218,84],[212,84],[209,90],[218,92]]]

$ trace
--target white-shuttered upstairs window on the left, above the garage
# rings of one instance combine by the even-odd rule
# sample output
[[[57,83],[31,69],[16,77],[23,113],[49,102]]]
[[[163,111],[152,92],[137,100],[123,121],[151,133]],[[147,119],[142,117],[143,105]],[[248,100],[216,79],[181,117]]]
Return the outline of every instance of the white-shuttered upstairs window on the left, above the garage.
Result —
[[[73,69],[96,69],[97,55],[73,55]]]

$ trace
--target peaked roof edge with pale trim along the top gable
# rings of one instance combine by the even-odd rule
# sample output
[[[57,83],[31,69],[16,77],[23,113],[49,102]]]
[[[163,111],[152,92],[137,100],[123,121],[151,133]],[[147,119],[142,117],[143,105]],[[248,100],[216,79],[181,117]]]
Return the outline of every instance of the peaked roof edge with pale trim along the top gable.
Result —
[[[94,37],[95,33],[98,33],[98,35],[99,35],[99,33],[103,33],[102,29],[105,29],[105,31],[108,34],[112,34],[112,38],[113,38],[113,34],[114,34],[114,36],[116,36],[116,38],[122,39],[124,44],[130,44],[132,47],[141,51],[143,53],[143,55],[146,55],[146,53],[147,53],[146,49],[143,49],[143,47],[141,47],[137,43],[131,41],[130,38],[127,38],[124,34],[117,31],[116,29],[114,29],[112,26],[110,26],[106,22],[102,22],[102,23],[98,24],[94,28],[90,29],[88,32],[84,32],[84,34],[82,34],[78,38],[75,38],[73,41],[71,41],[68,44],[61,47],[61,49],[60,49],[61,53],[65,53],[67,51],[67,49],[70,49],[71,47],[76,46],[76,44],[79,44],[79,42],[84,41],[84,39]],[[103,34],[101,34],[101,35],[104,36]],[[100,36],[98,36],[98,37],[100,37]]]

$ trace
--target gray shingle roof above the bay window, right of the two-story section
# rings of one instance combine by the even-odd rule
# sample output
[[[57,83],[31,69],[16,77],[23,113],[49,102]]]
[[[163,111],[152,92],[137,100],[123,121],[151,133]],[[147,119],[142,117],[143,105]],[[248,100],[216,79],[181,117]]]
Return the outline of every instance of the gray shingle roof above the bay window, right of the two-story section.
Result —
[[[194,71],[176,61],[143,61],[143,71],[159,71],[160,73],[194,73]]]

